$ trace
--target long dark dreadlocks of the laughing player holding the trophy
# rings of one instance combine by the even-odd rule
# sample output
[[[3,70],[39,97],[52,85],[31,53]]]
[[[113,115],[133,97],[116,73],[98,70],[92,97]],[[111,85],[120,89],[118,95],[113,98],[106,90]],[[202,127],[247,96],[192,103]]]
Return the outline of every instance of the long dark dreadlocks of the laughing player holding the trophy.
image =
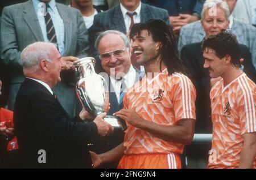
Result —
[[[142,30],[147,30],[148,35],[152,35],[155,42],[160,42],[158,54],[160,55],[160,65],[162,61],[167,66],[168,74],[181,72],[188,75],[188,70],[181,61],[177,52],[177,42],[171,25],[167,25],[163,20],[151,19],[144,23],[134,24],[130,31],[130,38],[141,35]],[[160,71],[162,67],[160,66]]]

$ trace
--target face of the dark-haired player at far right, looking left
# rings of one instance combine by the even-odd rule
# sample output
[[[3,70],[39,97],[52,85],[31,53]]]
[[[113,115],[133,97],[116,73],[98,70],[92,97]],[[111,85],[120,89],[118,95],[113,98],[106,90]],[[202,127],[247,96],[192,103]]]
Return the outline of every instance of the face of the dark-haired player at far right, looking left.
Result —
[[[209,70],[210,78],[218,78],[226,71],[226,57],[218,58],[214,50],[206,48],[204,50],[204,68]]]

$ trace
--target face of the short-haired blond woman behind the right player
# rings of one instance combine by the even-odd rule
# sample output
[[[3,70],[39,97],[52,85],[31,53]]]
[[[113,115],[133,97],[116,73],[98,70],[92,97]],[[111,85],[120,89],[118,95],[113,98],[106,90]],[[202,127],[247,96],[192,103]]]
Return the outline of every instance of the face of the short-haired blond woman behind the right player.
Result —
[[[217,6],[216,15],[209,13],[209,10],[210,8],[204,12],[204,19],[201,20],[206,37],[217,35],[222,29],[229,27],[229,20],[223,8]]]

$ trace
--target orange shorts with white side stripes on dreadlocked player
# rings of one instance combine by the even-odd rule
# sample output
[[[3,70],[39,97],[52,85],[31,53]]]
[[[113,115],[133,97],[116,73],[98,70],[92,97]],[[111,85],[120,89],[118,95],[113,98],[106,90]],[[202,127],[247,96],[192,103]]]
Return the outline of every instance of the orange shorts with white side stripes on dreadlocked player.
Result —
[[[180,156],[176,153],[150,153],[142,155],[124,155],[118,169],[180,169]]]

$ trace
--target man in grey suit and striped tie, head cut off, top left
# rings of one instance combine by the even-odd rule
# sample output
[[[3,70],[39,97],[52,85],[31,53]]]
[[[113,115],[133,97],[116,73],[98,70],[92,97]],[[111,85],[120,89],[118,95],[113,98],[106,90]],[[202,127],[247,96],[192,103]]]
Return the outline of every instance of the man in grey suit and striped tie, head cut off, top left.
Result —
[[[75,73],[72,64],[86,57],[88,33],[79,10],[55,0],[29,0],[3,9],[1,19],[1,58],[10,68],[9,109],[24,81],[20,52],[36,41],[53,42],[65,63],[62,81],[53,89],[60,95],[64,109],[72,115],[75,109]]]

